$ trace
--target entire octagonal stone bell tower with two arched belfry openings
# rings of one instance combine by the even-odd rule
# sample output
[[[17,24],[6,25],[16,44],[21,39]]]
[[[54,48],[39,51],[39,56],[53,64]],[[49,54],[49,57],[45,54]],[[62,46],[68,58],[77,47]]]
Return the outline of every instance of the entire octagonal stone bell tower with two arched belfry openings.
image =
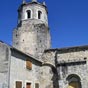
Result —
[[[18,25],[13,31],[13,47],[35,57],[51,47],[45,2],[23,0],[18,8]]]

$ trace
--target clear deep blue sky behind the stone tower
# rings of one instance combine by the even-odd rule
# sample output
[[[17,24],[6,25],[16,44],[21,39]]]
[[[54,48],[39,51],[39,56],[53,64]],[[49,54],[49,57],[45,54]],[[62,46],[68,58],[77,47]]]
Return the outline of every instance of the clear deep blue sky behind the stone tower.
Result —
[[[52,48],[88,45],[88,0],[45,1]],[[0,2],[0,40],[10,45],[12,32],[17,26],[17,9],[21,3],[22,0]]]

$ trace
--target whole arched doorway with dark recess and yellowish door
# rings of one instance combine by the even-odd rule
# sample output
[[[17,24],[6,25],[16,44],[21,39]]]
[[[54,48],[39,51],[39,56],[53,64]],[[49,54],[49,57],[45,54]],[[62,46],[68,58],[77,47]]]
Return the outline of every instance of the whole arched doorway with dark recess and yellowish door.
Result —
[[[76,74],[69,75],[66,80],[68,81],[68,87],[67,88],[82,88],[81,87],[81,79]]]

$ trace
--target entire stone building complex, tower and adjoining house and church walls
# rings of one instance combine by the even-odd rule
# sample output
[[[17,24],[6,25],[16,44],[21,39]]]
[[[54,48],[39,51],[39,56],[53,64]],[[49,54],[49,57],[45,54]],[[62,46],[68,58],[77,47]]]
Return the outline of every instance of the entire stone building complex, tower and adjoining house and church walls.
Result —
[[[88,45],[52,49],[47,16],[45,2],[19,6],[13,45],[0,41],[0,88],[88,88]]]

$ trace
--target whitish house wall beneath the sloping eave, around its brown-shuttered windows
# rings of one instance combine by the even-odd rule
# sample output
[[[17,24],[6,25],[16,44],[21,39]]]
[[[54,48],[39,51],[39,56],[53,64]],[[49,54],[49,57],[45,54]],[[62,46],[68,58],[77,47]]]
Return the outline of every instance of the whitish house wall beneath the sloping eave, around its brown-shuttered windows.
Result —
[[[32,62],[31,70],[26,68],[26,59]],[[31,83],[32,88],[35,88],[35,83],[39,83],[40,86],[40,68],[38,61],[13,50],[10,65],[10,88],[16,88],[16,81],[22,82],[22,88],[26,88],[27,82]]]

